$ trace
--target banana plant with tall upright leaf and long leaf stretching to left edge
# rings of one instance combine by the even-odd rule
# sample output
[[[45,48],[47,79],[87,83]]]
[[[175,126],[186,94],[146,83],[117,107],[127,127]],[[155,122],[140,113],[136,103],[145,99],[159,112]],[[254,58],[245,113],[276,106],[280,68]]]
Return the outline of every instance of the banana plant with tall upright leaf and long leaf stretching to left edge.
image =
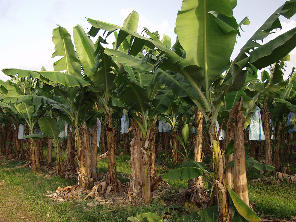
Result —
[[[58,26],[53,30],[53,42],[56,45],[53,57],[62,56],[61,59],[54,63],[54,71],[41,70],[36,72],[19,69],[5,69],[2,71],[12,77],[38,79],[37,83],[40,81],[43,83],[41,87],[43,95],[20,96],[16,100],[18,102],[32,100],[36,101],[36,104],[38,104],[37,101],[40,101],[59,111],[61,118],[64,118],[69,125],[73,126],[78,157],[81,157],[78,171],[88,172],[84,168],[82,149],[79,148],[81,136],[78,126],[82,128],[82,124],[79,123],[78,114],[80,107],[87,102],[85,97],[88,93],[84,89],[90,83],[83,79],[80,60],[76,58],[71,36],[65,28]],[[52,90],[53,93],[51,93]],[[80,173],[79,182],[81,186],[89,186],[90,176]]]

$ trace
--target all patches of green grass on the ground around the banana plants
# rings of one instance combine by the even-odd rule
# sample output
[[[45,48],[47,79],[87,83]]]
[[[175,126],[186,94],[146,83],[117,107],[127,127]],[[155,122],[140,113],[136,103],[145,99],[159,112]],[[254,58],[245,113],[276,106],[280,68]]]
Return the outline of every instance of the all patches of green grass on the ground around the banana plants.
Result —
[[[121,150],[119,150],[120,152]],[[46,150],[44,151],[46,154]],[[296,154],[293,154],[295,157]],[[54,161],[54,158],[53,158]],[[210,157],[204,162],[211,170]],[[284,164],[288,164],[287,163]],[[163,209],[161,200],[154,200],[149,206],[136,206],[115,203],[112,206],[96,206],[88,208],[90,202],[53,202],[52,199],[42,194],[47,190],[54,191],[58,186],[76,184],[73,179],[62,177],[43,178],[44,173],[34,173],[29,168],[15,168],[22,165],[17,161],[0,163],[0,222],[4,221],[126,221],[131,215],[144,212],[158,213]],[[296,165],[290,164],[290,168]],[[168,172],[178,165],[171,163],[169,158],[161,156],[157,159],[157,173],[159,175]],[[129,156],[119,155],[116,157],[118,173],[128,176],[130,173]],[[99,171],[107,171],[107,160],[99,161]],[[250,203],[256,213],[272,215],[273,218],[289,219],[296,215],[296,185],[287,181],[277,184],[277,181],[253,182],[253,179],[264,177],[258,170],[247,171]],[[119,176],[119,179],[122,179]],[[128,179],[123,179],[126,182]],[[3,184],[2,184],[3,183]],[[170,185],[178,190],[187,188],[187,181],[172,181]],[[168,218],[173,221],[174,218]]]

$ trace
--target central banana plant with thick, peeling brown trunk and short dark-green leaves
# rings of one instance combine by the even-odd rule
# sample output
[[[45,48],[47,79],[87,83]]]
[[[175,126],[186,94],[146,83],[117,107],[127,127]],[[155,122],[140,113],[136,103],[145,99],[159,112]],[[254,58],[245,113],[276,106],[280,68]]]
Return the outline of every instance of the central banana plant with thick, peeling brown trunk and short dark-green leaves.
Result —
[[[168,109],[174,95],[172,91],[165,89],[164,84],[157,81],[157,78],[152,78],[149,69],[145,71],[136,73],[137,83],[131,80],[127,73],[118,74],[115,83],[118,86],[116,90],[119,102],[133,118],[130,148],[133,199],[135,202],[142,199],[144,203],[148,203],[151,197],[150,180],[156,177],[155,123],[157,115]]]

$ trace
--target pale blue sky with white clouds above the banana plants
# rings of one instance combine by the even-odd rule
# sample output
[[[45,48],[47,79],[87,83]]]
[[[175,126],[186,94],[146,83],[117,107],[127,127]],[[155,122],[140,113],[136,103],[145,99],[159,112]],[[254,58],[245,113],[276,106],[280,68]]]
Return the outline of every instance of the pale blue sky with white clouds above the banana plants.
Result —
[[[283,0],[238,0],[234,9],[234,17],[239,23],[248,16],[249,26],[243,26],[245,32],[237,39],[231,59],[239,53],[240,48],[263,24],[263,22],[279,8]],[[181,10],[181,0],[0,0],[0,70],[3,68],[19,68],[25,70],[53,70],[53,63],[59,58],[51,58],[54,52],[52,30],[57,24],[66,28],[73,37],[73,27],[81,25],[86,32],[91,28],[86,18],[101,20],[122,26],[127,15],[135,10],[139,14],[138,33],[143,27],[162,37],[166,34],[171,37],[172,44],[176,41],[174,27],[178,10]],[[269,35],[266,42],[281,33],[296,27],[296,16],[291,20],[280,17],[283,30]],[[73,39],[73,38],[72,38]],[[112,44],[113,37],[107,39]],[[108,47],[108,46],[107,46]],[[112,45],[109,46],[112,48]],[[289,75],[293,66],[296,66],[296,49],[291,53],[291,61],[287,62]],[[0,72],[0,79],[7,79]]]

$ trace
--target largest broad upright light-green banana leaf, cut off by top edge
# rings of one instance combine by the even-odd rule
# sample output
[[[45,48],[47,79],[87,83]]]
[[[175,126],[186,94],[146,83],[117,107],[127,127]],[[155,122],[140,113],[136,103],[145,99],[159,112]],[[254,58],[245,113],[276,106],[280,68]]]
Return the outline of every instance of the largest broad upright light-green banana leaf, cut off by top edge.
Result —
[[[186,51],[186,60],[202,67],[206,90],[229,63],[237,28],[229,0],[182,2],[176,20],[176,33]]]

